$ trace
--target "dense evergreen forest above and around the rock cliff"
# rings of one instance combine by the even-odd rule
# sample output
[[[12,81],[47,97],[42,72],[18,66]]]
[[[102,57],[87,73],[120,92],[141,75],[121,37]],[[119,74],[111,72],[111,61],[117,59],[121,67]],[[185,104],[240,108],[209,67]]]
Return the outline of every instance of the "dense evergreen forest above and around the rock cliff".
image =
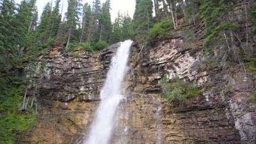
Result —
[[[248,63],[256,70],[256,58],[248,46],[248,35],[256,34],[256,4],[243,1],[247,37],[241,38],[241,22],[226,15],[236,0],[136,0],[133,17],[128,13],[110,19],[110,0],[93,5],[82,0],[68,0],[62,17],[61,0],[47,3],[38,15],[36,0],[0,1],[0,143],[14,143],[19,131],[27,130],[42,106],[37,101],[37,85],[42,76],[35,72],[40,55],[55,45],[66,52],[98,52],[111,44],[135,39],[139,45],[152,45],[172,37],[184,25],[205,23],[202,55],[221,53],[222,67],[229,62]],[[253,29],[249,28],[253,25]],[[237,47],[235,41],[247,43]],[[250,54],[251,53],[251,54]],[[250,55],[249,55],[250,54]],[[75,55],[75,53],[74,53]],[[43,70],[41,68],[40,70]],[[33,78],[31,78],[33,76]],[[33,97],[26,97],[29,85],[36,85]]]

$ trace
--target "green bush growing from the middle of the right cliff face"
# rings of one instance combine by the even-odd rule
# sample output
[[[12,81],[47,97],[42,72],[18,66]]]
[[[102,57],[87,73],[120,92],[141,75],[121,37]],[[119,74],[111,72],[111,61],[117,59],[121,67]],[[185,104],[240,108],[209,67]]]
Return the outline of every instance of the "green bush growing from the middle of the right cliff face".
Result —
[[[190,97],[195,97],[203,93],[202,89],[196,87],[194,83],[184,82],[179,79],[172,79],[168,82],[167,77],[164,76],[161,81],[162,93],[168,101],[178,103],[184,102]]]

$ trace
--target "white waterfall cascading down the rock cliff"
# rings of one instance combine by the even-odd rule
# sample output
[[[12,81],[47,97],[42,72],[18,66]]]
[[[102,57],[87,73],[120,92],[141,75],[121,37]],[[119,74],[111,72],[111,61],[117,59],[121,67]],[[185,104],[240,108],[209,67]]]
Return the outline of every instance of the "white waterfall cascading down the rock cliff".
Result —
[[[124,98],[121,82],[126,74],[131,44],[131,40],[121,42],[117,53],[112,58],[106,82],[101,89],[101,103],[96,112],[96,119],[92,123],[89,137],[84,140],[84,144],[107,144],[110,140],[115,123],[115,112]]]

